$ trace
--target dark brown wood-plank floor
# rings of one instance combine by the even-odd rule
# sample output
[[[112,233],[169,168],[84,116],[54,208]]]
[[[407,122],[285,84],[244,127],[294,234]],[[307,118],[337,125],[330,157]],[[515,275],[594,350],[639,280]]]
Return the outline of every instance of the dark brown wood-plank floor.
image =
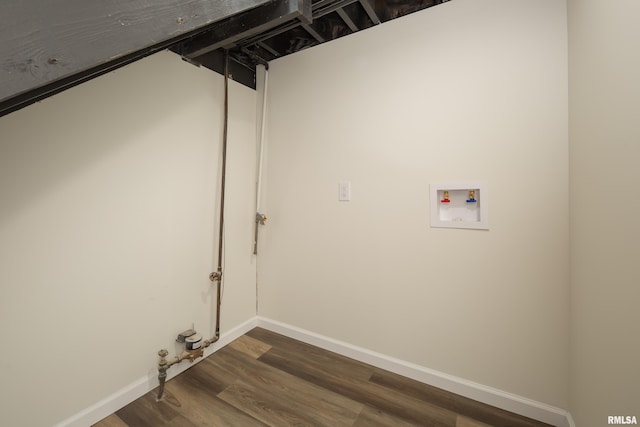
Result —
[[[261,328],[155,396],[95,426],[547,426]]]

